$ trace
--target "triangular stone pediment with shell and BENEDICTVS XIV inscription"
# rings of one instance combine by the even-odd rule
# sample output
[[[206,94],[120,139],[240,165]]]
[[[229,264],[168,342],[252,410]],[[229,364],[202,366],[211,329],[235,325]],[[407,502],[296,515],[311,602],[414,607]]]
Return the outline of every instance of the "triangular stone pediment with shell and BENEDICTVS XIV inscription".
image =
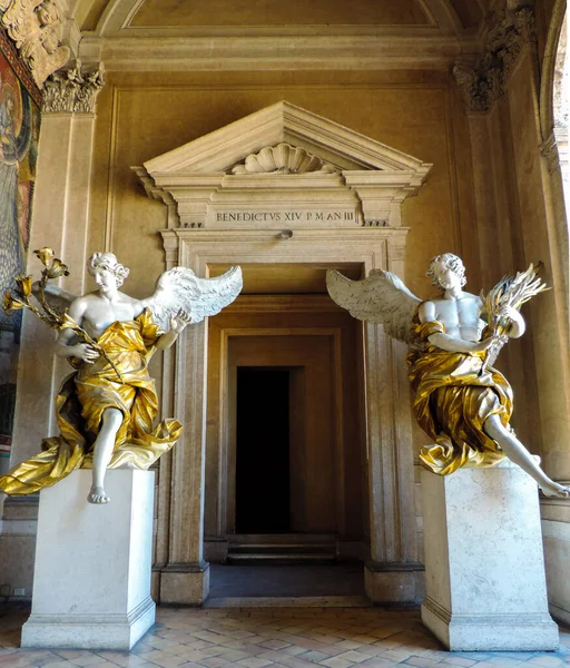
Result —
[[[132,169],[169,228],[283,234],[401,227],[431,165],[283,100]]]

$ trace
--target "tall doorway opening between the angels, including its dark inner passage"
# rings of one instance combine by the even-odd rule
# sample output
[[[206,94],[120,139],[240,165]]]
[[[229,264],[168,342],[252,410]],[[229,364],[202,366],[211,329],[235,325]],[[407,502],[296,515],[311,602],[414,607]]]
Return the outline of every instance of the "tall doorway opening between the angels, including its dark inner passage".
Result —
[[[362,343],[321,295],[240,296],[208,323],[208,562],[365,556]]]

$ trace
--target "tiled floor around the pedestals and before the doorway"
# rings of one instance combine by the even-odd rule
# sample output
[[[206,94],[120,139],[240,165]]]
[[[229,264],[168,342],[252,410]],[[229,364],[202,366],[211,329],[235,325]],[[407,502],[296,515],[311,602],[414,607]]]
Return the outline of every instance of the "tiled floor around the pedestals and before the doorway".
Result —
[[[29,610],[0,609],[0,667],[98,668],[556,668],[570,665],[570,631],[561,651],[444,651],[414,610],[381,608],[159,608],[156,626],[130,652],[20,649]]]

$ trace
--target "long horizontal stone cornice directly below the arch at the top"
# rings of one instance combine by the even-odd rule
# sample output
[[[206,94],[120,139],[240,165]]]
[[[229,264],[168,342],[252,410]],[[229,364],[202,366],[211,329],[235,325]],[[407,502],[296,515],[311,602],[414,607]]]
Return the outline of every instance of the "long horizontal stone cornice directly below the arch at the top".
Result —
[[[127,31],[125,31],[127,33]],[[472,45],[475,48],[475,45]],[[468,49],[470,50],[470,49]],[[83,62],[108,71],[283,69],[440,69],[462,52],[455,36],[331,35],[252,37],[98,37],[83,33]]]

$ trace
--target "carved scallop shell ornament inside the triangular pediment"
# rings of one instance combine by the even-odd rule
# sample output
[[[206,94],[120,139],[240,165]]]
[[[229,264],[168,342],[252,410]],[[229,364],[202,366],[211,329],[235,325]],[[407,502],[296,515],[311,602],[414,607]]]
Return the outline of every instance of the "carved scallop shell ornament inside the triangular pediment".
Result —
[[[306,174],[324,171],[336,174],[337,169],[304,148],[289,144],[266,146],[257,154],[247,156],[244,164],[236,165],[232,174]]]

